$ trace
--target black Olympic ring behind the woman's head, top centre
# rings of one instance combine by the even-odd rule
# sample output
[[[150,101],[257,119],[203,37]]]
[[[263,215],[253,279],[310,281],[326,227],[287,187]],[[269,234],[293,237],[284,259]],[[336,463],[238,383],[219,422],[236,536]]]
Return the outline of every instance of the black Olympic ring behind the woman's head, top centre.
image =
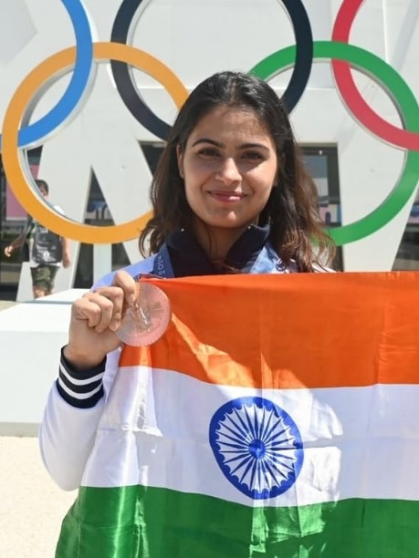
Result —
[[[142,0],[123,0],[115,17],[110,34],[113,43],[126,45],[130,33],[131,22],[141,5]],[[288,88],[282,96],[288,112],[295,108],[309,81],[313,61],[313,36],[309,24],[309,16],[301,0],[282,0],[294,28],[297,53],[294,70]],[[141,98],[135,87],[129,66],[125,62],[110,61],[110,67],[120,98],[134,119],[161,140],[166,140],[171,127],[159,119]]]

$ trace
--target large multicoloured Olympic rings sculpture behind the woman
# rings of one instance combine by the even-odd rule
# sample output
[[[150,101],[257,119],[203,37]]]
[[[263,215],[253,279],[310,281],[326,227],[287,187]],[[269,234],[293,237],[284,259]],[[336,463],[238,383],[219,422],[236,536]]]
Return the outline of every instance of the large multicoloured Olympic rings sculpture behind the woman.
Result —
[[[95,62],[110,59],[110,67],[120,98],[132,116],[152,134],[164,140],[170,126],[150,109],[131,78],[131,67],[140,68],[166,88],[178,108],[187,98],[187,90],[169,67],[152,55],[131,47],[133,29],[141,15],[143,0],[122,0],[111,30],[110,42],[93,43],[89,18],[82,0],[61,0],[74,28],[76,46],[58,52],[37,67],[22,81],[11,99],[3,123],[0,145],[5,173],[17,200],[26,212],[48,229],[82,243],[120,243],[138,237],[150,213],[131,222],[99,227],[72,221],[58,215],[33,188],[25,149],[41,144],[58,127],[75,116],[85,96]],[[338,245],[352,243],[375,233],[390,222],[411,199],[419,178],[419,105],[403,78],[381,58],[361,47],[349,44],[351,26],[365,0],[343,0],[333,26],[330,41],[313,41],[309,17],[301,0],[278,0],[288,13],[296,44],[278,50],[249,70],[259,78],[270,79],[288,68],[292,76],[284,93],[284,102],[291,112],[299,102],[307,83],[313,61],[330,58],[336,87],[351,116],[380,140],[405,150],[403,171],[391,194],[372,212],[357,222],[330,229]],[[390,94],[401,115],[403,129],[383,120],[361,97],[351,75],[355,67],[368,74]],[[27,125],[33,100],[43,88],[63,71],[72,71],[68,88],[47,115]]]

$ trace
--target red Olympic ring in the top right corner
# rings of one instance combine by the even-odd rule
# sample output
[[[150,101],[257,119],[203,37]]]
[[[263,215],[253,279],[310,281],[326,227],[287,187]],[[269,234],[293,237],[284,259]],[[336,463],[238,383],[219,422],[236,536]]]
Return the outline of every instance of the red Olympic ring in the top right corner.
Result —
[[[343,0],[336,16],[332,40],[349,43],[351,26],[364,0]],[[362,98],[352,78],[351,66],[347,62],[332,60],[331,67],[336,86],[347,108],[361,124],[384,141],[407,150],[419,151],[419,134],[397,128],[382,119]]]

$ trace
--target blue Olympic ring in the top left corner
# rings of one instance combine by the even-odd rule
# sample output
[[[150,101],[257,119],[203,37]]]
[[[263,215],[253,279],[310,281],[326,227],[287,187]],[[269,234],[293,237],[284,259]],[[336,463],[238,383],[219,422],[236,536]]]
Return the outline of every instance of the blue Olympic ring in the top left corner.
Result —
[[[88,16],[80,0],[61,0],[61,2],[68,11],[76,35],[76,64],[68,88],[57,105],[37,122],[19,130],[20,148],[34,144],[45,138],[53,129],[58,128],[76,108],[89,82],[93,65],[93,41]],[[1,140],[0,134],[0,149]]]

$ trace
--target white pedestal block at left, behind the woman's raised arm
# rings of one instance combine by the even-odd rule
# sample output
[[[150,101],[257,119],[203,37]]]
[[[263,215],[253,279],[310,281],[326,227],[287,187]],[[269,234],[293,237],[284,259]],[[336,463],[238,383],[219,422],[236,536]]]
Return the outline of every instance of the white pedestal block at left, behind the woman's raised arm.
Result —
[[[85,292],[70,289],[0,312],[0,436],[37,434],[68,340],[71,304]]]

